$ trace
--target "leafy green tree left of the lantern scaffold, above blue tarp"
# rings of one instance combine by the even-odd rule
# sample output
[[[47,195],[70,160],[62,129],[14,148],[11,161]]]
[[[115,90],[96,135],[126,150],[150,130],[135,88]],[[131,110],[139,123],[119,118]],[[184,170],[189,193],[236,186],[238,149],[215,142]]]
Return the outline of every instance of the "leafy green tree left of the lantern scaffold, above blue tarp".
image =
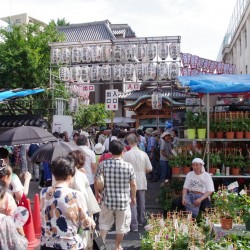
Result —
[[[13,25],[0,29],[0,87],[48,87],[50,47],[63,36],[51,22],[46,27],[38,24]]]

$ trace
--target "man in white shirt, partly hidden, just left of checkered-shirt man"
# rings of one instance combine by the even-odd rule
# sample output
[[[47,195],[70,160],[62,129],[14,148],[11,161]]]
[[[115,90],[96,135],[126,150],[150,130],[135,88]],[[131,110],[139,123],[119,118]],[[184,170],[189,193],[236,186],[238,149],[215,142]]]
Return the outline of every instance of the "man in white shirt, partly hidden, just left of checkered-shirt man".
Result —
[[[94,192],[94,177],[96,173],[96,157],[95,152],[88,147],[88,138],[85,135],[80,135],[77,139],[77,145],[85,154],[86,160],[84,168],[89,181],[89,185]]]

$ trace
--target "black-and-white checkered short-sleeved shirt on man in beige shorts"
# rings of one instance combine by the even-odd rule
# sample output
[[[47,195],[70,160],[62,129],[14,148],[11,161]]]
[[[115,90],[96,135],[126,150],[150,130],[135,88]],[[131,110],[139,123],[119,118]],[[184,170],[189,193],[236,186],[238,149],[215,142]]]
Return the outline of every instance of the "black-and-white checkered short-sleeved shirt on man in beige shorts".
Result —
[[[130,204],[130,182],[135,179],[133,166],[122,158],[99,164],[96,176],[104,176],[103,203],[111,210],[126,210]]]

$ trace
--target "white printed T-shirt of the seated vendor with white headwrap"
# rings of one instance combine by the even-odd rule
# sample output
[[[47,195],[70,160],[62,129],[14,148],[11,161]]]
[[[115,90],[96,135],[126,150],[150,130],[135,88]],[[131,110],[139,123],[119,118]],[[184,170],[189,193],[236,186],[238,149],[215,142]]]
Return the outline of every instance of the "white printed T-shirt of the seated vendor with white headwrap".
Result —
[[[214,183],[209,173],[203,172],[200,175],[195,174],[191,171],[187,174],[184,188],[188,189],[189,192],[214,192]]]

